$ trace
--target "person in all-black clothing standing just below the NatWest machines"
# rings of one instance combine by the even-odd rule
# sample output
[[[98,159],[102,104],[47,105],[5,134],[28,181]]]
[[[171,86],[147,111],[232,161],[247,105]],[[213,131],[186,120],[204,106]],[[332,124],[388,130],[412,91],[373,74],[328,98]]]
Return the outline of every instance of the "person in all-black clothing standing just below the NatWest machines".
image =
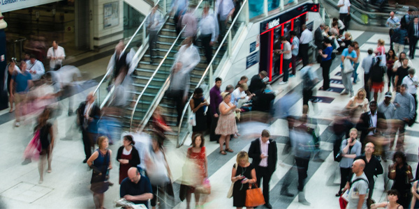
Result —
[[[273,93],[265,93],[266,82],[263,79],[266,77],[267,72],[265,70],[251,77],[249,91],[256,95],[253,98],[253,111],[270,111],[271,102],[275,99]]]

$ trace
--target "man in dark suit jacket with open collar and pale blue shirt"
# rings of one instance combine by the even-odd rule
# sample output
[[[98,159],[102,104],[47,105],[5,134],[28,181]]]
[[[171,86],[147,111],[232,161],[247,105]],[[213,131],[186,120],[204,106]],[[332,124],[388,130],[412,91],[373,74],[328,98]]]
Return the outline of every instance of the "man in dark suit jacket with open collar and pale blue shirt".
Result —
[[[369,102],[369,111],[361,114],[360,122],[356,125],[356,129],[361,131],[360,141],[362,143],[362,148],[365,147],[365,138],[368,135],[375,134],[378,120],[380,119],[385,119],[385,116],[383,113],[377,111],[377,102]]]

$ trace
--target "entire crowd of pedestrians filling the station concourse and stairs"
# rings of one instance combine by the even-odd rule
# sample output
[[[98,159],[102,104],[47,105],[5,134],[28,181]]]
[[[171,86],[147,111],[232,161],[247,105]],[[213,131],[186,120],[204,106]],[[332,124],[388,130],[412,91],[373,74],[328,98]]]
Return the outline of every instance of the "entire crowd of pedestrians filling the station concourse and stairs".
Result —
[[[175,102],[177,111],[177,125],[182,117],[184,104],[189,95],[189,79],[191,72],[200,63],[198,47],[195,46],[197,34],[202,42],[206,62],[212,60],[214,42],[223,40],[226,24],[237,13],[241,1],[216,1],[215,13],[210,13],[209,6],[203,9],[203,15],[198,22],[189,1],[172,1],[172,15],[177,24],[177,32],[182,31],[184,38],[179,52],[175,55],[172,65],[170,87],[166,96]],[[368,49],[368,55],[360,60],[360,45],[353,40],[347,31],[350,14],[348,0],[338,3],[339,19],[334,18],[332,25],[320,24],[318,29],[309,31],[302,25],[302,34],[298,36],[291,31],[292,42],[286,37],[279,40],[282,49],[274,49],[274,53],[283,54],[284,70],[280,84],[287,84],[288,77],[299,75],[302,79],[302,91],[292,90],[284,96],[282,102],[274,103],[275,91],[267,84],[267,72],[260,71],[251,77],[242,76],[237,85],[229,84],[221,89],[223,80],[216,77],[215,84],[210,88],[210,98],[204,97],[203,88],[197,87],[189,101],[193,112],[191,147],[186,150],[186,160],[183,168],[182,183],[179,197],[186,199],[186,208],[190,208],[192,193],[195,206],[203,206],[207,194],[211,193],[208,178],[207,150],[205,143],[216,141],[219,144],[220,155],[237,152],[232,149],[230,140],[238,138],[240,134],[240,118],[244,114],[265,113],[270,119],[284,119],[287,121],[289,139],[283,153],[292,150],[293,162],[297,168],[298,201],[310,206],[304,195],[311,159],[323,161],[318,128],[316,123],[309,121],[309,100],[314,94],[314,87],[318,77],[309,63],[309,42],[314,40],[318,63],[322,68],[323,85],[321,90],[330,88],[330,68],[335,56],[339,56],[341,63],[341,77],[344,91],[341,95],[350,95],[348,103],[339,115],[334,118],[332,132],[335,136],[333,156],[336,167],[340,171],[340,185],[336,196],[339,196],[341,208],[414,208],[419,199],[419,173],[413,176],[412,168],[406,162],[404,153],[404,133],[406,125],[416,123],[418,105],[417,88],[419,79],[413,68],[416,44],[419,39],[419,18],[404,16],[404,22],[390,13],[388,26],[390,27],[390,50],[385,50],[384,40],[378,40],[376,49]],[[162,17],[157,10],[152,9],[147,30],[149,38],[150,63],[156,55],[156,34],[161,27]],[[184,27],[185,26],[185,27]],[[198,33],[198,31],[200,31]],[[404,45],[409,44],[409,58],[406,56]],[[122,109],[128,105],[131,88],[131,75],[135,69],[135,50],[126,51],[124,42],[115,47],[115,53],[108,64],[108,75],[111,77],[108,91],[114,89],[116,93],[108,102],[109,107],[99,108],[95,93],[89,93],[79,107],[73,111],[73,102],[69,98],[68,115],[75,112],[76,121],[81,131],[84,145],[84,160],[92,170],[91,192],[96,208],[104,208],[104,194],[110,186],[110,169],[115,162],[112,160],[112,150],[109,146],[122,141],[117,150],[116,162],[119,162],[119,197],[131,203],[142,203],[148,208],[172,208],[175,205],[172,173],[166,157],[165,133],[172,132],[161,107],[157,107],[150,121],[152,130],[142,133],[143,139],[137,135],[124,134],[115,129],[115,121],[108,115],[122,116]],[[399,56],[397,56],[399,55]],[[302,68],[296,71],[297,58],[302,59]],[[38,160],[39,183],[43,183],[45,164],[47,173],[52,172],[52,151],[54,141],[57,140],[57,117],[62,111],[59,100],[68,98],[76,91],[76,82],[80,80],[80,71],[71,66],[63,66],[65,59],[64,48],[57,42],[47,52],[50,59],[49,71],[33,54],[27,55],[27,61],[20,65],[11,62],[8,65],[8,93],[10,94],[10,112],[15,111],[15,126],[19,127],[28,116],[36,118],[34,138],[24,152],[25,161]],[[288,66],[291,63],[291,74]],[[277,65],[277,64],[275,64]],[[359,66],[364,74],[358,75]],[[279,68],[276,66],[276,68]],[[353,79],[352,79],[353,78]],[[354,91],[353,84],[363,80],[364,85]],[[388,81],[385,85],[384,82]],[[249,85],[248,85],[249,82]],[[388,91],[385,91],[387,86]],[[355,89],[356,90],[356,89]],[[299,100],[302,95],[302,111],[298,116],[291,114],[292,102]],[[393,98],[394,97],[394,98]],[[381,102],[378,102],[383,98]],[[13,102],[15,108],[13,108]],[[242,115],[242,116],[241,116]],[[269,123],[270,121],[264,121]],[[272,122],[272,121],[271,121]],[[208,131],[208,132],[207,132]],[[205,141],[205,134],[210,139]],[[359,137],[358,137],[359,136]],[[231,188],[228,197],[233,197],[236,208],[253,208],[247,201],[247,190],[262,187],[263,206],[272,208],[270,203],[270,180],[277,169],[279,150],[277,141],[269,130],[262,130],[257,139],[251,141],[247,151],[237,153],[235,164],[231,171]],[[396,140],[397,139],[397,140]],[[36,140],[39,141],[37,144]],[[395,142],[396,141],[396,142]],[[33,150],[37,150],[33,152]],[[230,154],[229,154],[230,155]],[[249,161],[251,158],[251,161]],[[387,164],[391,160],[392,163]],[[80,160],[81,161],[81,160]],[[388,168],[383,168],[383,165]],[[372,203],[374,192],[374,176],[386,173],[393,180],[388,190],[388,201]],[[355,174],[355,175],[353,175]],[[291,178],[289,176],[285,177]],[[261,183],[262,182],[262,183]],[[413,185],[412,185],[413,183]],[[289,182],[284,181],[281,195],[294,196],[289,192]]]

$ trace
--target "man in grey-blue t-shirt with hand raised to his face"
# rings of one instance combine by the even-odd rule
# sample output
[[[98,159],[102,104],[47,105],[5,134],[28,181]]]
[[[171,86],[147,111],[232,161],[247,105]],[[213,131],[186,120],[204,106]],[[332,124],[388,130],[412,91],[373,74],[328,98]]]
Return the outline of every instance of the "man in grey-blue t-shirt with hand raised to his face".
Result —
[[[358,137],[358,130],[352,128],[349,132],[349,139],[344,139],[341,144],[341,162],[339,162],[339,167],[341,171],[341,183],[339,187],[339,192],[336,196],[341,196],[343,189],[346,185],[346,180],[351,174],[351,167],[353,164],[353,159],[361,155],[361,143],[356,139]],[[358,175],[357,175],[358,176]]]

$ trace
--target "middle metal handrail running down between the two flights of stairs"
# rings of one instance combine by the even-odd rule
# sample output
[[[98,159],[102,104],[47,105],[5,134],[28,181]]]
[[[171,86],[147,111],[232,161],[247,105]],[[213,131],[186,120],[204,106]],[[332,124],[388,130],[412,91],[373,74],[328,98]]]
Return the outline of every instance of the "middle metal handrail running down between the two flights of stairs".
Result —
[[[198,5],[196,6],[195,10],[193,11],[193,14],[195,14],[196,10],[199,8],[200,4],[201,4],[201,3],[203,3],[203,1],[204,1],[204,0],[200,0],[200,1],[199,1]],[[135,101],[134,108],[133,108],[133,110],[131,111],[131,119],[130,119],[130,123],[129,123],[129,129],[130,129],[130,132],[131,132],[131,128],[132,128],[132,126],[133,126],[133,118],[134,118],[134,114],[135,114],[135,109],[137,109],[138,102],[140,102],[140,98],[141,98],[141,97],[142,97],[142,95],[144,94],[144,92],[145,92],[145,90],[147,89],[147,87],[149,86],[149,84],[152,82],[152,79],[154,78],[154,76],[155,76],[155,75],[157,74],[157,72],[160,70],[161,65],[163,65],[164,61],[166,61],[166,58],[168,57],[168,55],[169,55],[169,54],[170,54],[170,52],[172,51],[172,48],[173,48],[173,47],[175,47],[177,40],[179,40],[179,38],[180,38],[180,36],[182,35],[182,32],[184,31],[184,29],[186,28],[186,26],[187,26],[187,25],[185,25],[185,26],[183,27],[182,31],[180,31],[179,35],[177,35],[177,37],[176,37],[176,39],[175,39],[175,42],[173,42],[173,44],[172,44],[172,45],[170,46],[170,48],[168,49],[168,52],[166,52],[166,54],[163,56],[163,59],[160,61],[160,63],[159,63],[159,65],[157,66],[156,70],[154,70],[152,77],[150,77],[150,78],[149,78],[149,80],[148,80],[147,84],[144,86],[144,88],[142,88],[142,91],[141,91],[140,95],[138,95],[137,101]],[[165,84],[166,84],[166,83],[170,80],[170,76],[171,76],[171,74],[168,76],[168,79],[166,79]],[[163,84],[163,86],[164,86],[164,84]],[[163,86],[162,86],[162,87],[163,87]],[[160,94],[162,93],[162,89],[163,89],[163,88],[161,88],[161,89],[160,89],[160,91],[159,91],[159,93],[157,93],[157,95],[160,95]],[[156,98],[157,98],[157,97],[156,97]],[[154,98],[154,100],[153,100],[153,102],[152,102],[152,104],[151,104],[151,105],[153,105],[153,104],[154,104],[154,102],[156,102],[156,98]],[[149,111],[147,111],[147,112],[146,112],[146,114],[144,115],[144,117],[145,117],[145,116],[147,116],[148,112],[149,112]],[[148,121],[148,119],[149,119],[149,118],[147,118],[147,121]],[[145,120],[142,120],[142,121],[145,121]],[[142,124],[143,124],[143,122],[142,122],[142,123],[140,123],[140,125],[142,125]],[[142,129],[141,129],[140,131],[142,131],[142,130],[144,129],[144,127],[143,127],[143,126],[145,126],[145,124],[144,124],[144,125],[142,125]]]

